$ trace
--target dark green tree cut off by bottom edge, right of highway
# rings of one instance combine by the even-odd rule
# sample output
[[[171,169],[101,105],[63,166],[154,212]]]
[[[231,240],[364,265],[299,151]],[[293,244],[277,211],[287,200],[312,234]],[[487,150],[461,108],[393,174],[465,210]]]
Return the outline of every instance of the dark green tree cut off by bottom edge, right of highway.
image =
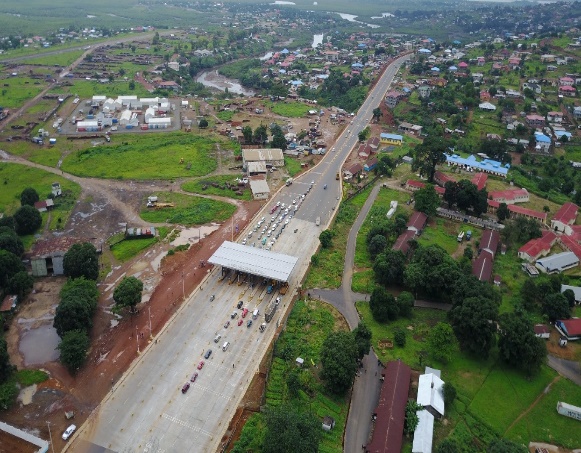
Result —
[[[322,437],[321,420],[290,405],[269,407],[262,451],[316,453]]]

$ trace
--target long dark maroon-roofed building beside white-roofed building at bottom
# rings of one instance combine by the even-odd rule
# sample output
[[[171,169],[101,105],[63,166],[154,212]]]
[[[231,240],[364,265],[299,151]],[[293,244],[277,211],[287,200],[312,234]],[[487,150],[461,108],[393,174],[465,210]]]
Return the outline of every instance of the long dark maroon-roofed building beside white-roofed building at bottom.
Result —
[[[375,428],[366,453],[400,453],[411,369],[400,360],[389,362],[381,373],[383,384],[373,416]]]

